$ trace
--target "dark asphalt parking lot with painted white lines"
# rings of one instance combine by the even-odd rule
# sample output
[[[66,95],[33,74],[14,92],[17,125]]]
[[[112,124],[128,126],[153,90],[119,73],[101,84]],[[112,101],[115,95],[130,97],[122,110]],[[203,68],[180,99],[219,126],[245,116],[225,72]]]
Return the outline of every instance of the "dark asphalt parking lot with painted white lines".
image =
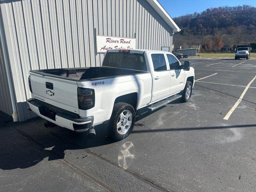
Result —
[[[105,125],[88,140],[38,117],[6,120],[0,190],[255,191],[256,58],[186,60],[195,68],[190,101],[138,110],[125,140],[106,137]]]

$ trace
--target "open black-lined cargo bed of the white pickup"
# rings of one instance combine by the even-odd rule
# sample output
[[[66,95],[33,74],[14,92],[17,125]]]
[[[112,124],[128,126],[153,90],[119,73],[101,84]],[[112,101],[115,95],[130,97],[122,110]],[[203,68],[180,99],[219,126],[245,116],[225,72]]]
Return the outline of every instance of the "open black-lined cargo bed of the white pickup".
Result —
[[[54,76],[58,78],[70,79],[74,81],[91,81],[96,79],[113,78],[117,76],[135,75],[148,73],[147,71],[137,71],[131,69],[111,68],[111,67],[89,67],[89,68],[61,68],[31,70],[33,73],[44,76]]]

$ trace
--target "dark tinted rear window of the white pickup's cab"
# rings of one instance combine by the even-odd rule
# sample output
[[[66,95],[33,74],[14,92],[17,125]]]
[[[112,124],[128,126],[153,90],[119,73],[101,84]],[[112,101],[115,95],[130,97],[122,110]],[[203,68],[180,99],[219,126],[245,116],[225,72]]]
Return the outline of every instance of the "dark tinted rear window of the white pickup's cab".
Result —
[[[147,71],[144,54],[108,52],[102,66]]]

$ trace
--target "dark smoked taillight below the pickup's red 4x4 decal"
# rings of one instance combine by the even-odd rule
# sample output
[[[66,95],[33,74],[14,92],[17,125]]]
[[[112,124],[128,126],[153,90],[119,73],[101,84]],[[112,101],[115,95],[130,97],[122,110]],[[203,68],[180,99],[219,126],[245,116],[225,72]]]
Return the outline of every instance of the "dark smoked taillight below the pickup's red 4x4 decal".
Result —
[[[77,87],[78,108],[87,110],[95,105],[94,89]]]

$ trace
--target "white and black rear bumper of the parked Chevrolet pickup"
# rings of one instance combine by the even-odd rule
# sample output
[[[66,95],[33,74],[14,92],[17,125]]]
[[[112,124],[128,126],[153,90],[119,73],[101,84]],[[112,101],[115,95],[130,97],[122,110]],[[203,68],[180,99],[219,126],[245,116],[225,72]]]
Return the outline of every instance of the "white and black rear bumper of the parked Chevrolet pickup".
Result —
[[[93,125],[93,116],[81,118],[77,114],[35,99],[28,99],[27,103],[38,116],[72,131],[86,132]]]

